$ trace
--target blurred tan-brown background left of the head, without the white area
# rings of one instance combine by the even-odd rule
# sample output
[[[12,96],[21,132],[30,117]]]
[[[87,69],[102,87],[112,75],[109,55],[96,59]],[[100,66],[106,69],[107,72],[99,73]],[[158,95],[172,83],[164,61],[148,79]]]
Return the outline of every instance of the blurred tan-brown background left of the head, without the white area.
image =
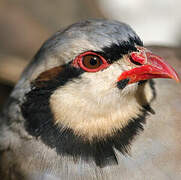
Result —
[[[0,109],[41,44],[80,19],[103,17],[96,0],[0,0]]]

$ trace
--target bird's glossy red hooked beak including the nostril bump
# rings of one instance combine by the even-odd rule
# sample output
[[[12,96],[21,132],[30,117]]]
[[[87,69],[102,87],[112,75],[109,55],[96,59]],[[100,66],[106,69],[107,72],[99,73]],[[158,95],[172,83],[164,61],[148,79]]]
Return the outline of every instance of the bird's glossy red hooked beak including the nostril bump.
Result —
[[[130,53],[130,63],[137,66],[123,72],[118,81],[129,79],[129,84],[152,78],[171,78],[180,81],[176,71],[161,57],[151,53],[146,48],[138,47],[138,52]]]

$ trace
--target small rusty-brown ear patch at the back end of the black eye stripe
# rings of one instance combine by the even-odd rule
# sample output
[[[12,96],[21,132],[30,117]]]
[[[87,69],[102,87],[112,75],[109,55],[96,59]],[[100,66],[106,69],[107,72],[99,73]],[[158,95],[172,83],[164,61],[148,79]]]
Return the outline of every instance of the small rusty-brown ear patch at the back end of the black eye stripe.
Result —
[[[58,76],[58,74],[63,70],[62,66],[54,67],[47,71],[42,72],[33,82],[37,87],[42,87],[47,81],[50,81]]]

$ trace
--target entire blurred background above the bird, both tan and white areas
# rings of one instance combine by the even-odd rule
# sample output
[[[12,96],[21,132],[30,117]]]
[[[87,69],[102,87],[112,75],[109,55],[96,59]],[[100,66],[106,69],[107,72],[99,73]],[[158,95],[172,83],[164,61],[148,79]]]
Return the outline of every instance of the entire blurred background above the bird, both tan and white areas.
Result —
[[[0,109],[41,44],[57,30],[81,19],[125,21],[144,42],[177,46],[179,53],[180,0],[160,1],[0,0]]]

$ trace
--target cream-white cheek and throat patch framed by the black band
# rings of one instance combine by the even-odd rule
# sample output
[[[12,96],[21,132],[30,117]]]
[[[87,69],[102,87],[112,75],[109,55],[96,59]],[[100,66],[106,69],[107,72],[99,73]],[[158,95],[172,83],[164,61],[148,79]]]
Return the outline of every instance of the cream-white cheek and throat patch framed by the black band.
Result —
[[[113,64],[104,71],[84,73],[58,88],[50,98],[55,123],[92,140],[105,138],[138,117],[141,106],[135,98],[137,84],[120,91],[115,82],[121,71]]]

